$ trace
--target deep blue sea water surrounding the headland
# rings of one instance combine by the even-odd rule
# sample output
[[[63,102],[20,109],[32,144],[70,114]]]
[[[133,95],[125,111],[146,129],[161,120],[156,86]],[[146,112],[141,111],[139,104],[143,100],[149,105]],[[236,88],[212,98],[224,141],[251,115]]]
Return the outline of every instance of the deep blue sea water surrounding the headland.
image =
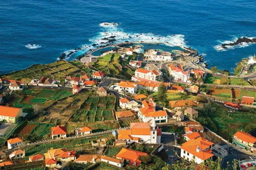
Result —
[[[0,74],[53,62],[61,53],[83,47],[70,59],[75,58],[109,35],[117,35],[118,41],[139,36],[191,46],[210,65],[233,71],[236,62],[256,53],[256,45],[227,51],[216,46],[241,36],[256,37],[255,11],[255,0],[1,1]],[[105,28],[102,22],[119,26]],[[41,47],[25,47],[31,43]]]

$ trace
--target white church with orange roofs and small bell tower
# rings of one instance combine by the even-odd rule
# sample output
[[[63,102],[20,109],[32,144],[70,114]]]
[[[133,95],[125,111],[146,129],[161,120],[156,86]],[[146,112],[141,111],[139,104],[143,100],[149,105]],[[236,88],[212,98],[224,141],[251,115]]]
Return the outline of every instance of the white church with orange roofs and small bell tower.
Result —
[[[131,123],[130,129],[118,131],[118,140],[127,142],[161,143],[162,131],[155,123],[137,122]]]

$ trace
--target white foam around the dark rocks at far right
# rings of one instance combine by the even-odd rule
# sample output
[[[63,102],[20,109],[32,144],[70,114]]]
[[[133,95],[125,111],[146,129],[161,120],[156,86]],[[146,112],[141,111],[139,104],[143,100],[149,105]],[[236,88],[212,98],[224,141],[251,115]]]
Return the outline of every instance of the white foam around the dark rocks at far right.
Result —
[[[248,39],[254,39],[255,37],[247,37]],[[214,46],[215,50],[216,51],[227,51],[228,49],[235,49],[235,48],[243,48],[243,47],[248,47],[250,45],[252,45],[253,43],[246,43],[246,42],[242,42],[240,45],[235,45],[235,46],[225,46],[227,47],[227,49],[223,48],[222,47],[222,44],[223,43],[233,43],[233,42],[236,42],[238,39],[238,37],[234,37],[232,40],[226,40],[226,41],[218,41],[220,44],[219,45],[216,45]]]

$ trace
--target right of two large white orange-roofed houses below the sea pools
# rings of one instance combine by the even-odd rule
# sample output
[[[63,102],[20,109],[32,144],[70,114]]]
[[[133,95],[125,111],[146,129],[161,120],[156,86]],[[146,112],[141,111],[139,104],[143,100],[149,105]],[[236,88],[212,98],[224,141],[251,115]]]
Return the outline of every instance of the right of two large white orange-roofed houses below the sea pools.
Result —
[[[168,70],[175,81],[190,83],[190,72],[184,71],[180,65],[170,65]]]

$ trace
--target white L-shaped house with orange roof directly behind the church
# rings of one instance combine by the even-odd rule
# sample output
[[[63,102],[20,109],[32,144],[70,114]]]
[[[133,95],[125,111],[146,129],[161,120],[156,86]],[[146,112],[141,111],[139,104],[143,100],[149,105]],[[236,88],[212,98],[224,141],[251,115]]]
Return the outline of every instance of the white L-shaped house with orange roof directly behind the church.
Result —
[[[142,102],[142,108],[138,110],[138,117],[142,122],[155,121],[155,123],[168,122],[168,115],[165,110],[156,111],[153,103],[149,103],[146,100]]]

